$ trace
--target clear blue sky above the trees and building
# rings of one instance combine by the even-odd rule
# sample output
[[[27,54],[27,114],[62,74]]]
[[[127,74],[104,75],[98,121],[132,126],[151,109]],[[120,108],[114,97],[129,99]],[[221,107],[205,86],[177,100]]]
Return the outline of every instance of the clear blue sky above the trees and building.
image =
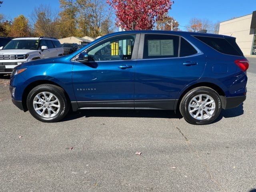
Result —
[[[38,2],[50,4],[52,8],[59,9],[58,0],[3,0],[0,13],[9,18],[20,14],[30,16]],[[256,10],[256,0],[174,0],[169,15],[173,16],[180,24],[180,29],[188,24],[191,18],[208,19],[213,23],[229,20],[232,17],[252,14]]]

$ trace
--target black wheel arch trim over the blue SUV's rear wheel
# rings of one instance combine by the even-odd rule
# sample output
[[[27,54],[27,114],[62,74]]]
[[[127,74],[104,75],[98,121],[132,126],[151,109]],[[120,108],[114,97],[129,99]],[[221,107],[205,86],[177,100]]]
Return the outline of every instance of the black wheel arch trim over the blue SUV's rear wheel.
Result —
[[[213,90],[215,90],[221,99],[221,103],[222,103],[222,107],[226,106],[226,97],[225,97],[225,92],[222,90],[222,88],[220,88],[218,85],[214,84],[214,83],[210,83],[210,82],[200,82],[200,83],[196,83],[193,84],[191,86],[189,86],[188,88],[182,90],[182,93],[180,94],[180,97],[178,100],[176,100],[175,104],[174,104],[174,110],[178,110],[179,106],[180,106],[180,102],[182,100],[182,98],[184,97],[184,95],[189,92],[190,90],[196,88],[196,87],[209,87],[212,88]]]

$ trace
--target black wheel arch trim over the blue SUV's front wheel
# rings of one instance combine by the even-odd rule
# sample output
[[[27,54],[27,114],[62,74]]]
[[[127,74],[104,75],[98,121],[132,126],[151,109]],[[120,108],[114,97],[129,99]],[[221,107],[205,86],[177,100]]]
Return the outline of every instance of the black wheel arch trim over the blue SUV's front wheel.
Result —
[[[28,107],[27,107],[27,104],[26,104],[26,100],[27,100],[27,97],[28,97],[29,92],[30,92],[34,87],[36,87],[36,86],[38,86],[38,85],[42,85],[42,84],[52,84],[52,85],[56,85],[56,86],[62,88],[62,89],[64,90],[64,92],[65,92],[66,98],[68,99],[67,102],[70,102],[70,104],[71,104],[70,97],[68,96],[66,90],[65,90],[62,86],[60,86],[59,84],[57,84],[57,83],[55,83],[55,82],[52,82],[52,81],[50,81],[50,80],[36,80],[36,81],[30,83],[28,86],[26,86],[26,88],[25,88],[24,91],[23,91],[23,94],[22,94],[22,106],[23,106],[23,109],[24,109],[25,112],[28,111]]]

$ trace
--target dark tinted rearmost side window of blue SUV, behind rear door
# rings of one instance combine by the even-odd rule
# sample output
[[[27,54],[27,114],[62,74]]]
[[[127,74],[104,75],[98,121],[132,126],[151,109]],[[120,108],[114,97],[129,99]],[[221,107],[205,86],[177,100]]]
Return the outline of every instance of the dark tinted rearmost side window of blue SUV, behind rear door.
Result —
[[[234,48],[225,38],[194,36],[198,40],[204,42],[211,48],[223,54],[242,56],[241,53]],[[237,45],[236,45],[237,46]]]

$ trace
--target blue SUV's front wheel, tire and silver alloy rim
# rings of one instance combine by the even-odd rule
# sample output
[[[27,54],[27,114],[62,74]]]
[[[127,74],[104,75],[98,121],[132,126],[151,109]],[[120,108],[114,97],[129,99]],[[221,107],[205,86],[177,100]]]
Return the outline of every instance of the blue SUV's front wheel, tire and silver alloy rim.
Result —
[[[42,122],[58,122],[70,108],[62,88],[52,84],[42,84],[28,94],[27,106],[30,114]]]

